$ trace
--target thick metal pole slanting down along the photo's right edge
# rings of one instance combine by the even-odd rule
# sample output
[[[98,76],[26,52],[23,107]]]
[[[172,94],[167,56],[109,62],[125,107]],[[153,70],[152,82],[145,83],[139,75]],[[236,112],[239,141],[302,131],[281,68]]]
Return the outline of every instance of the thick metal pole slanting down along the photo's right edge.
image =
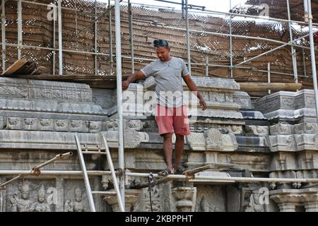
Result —
[[[316,119],[318,124],[318,88],[317,88],[317,71],[316,71],[316,58],[314,56],[314,37],[312,33],[312,1],[308,0],[308,13],[309,13],[309,33],[310,33],[310,57],[312,60],[312,81],[314,82],[314,100],[316,107]]]

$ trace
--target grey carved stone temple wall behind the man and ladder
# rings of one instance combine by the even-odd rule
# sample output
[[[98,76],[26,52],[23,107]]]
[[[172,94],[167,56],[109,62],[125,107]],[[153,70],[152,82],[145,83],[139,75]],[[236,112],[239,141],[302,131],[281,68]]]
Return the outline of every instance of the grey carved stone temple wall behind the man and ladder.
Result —
[[[189,111],[192,133],[185,139],[182,162],[189,167],[211,165],[197,175],[317,178],[318,137],[312,90],[278,92],[252,102],[232,79],[193,80],[208,109]],[[131,172],[155,173],[165,168],[163,138],[158,136],[153,115],[148,114],[151,110],[144,109],[146,91],[153,88],[151,77],[131,84],[129,95],[126,93],[131,98],[124,99],[129,113],[124,114],[124,160]],[[184,88],[187,90],[185,84]],[[116,90],[91,90],[77,83],[0,78],[0,173],[6,171],[0,174],[0,182],[14,177],[7,171],[29,170],[64,151],[73,151],[74,155],[45,169],[80,170],[74,133],[82,144],[97,148],[103,146],[101,135],[105,136],[117,169],[115,94]],[[136,100],[134,107],[131,100]],[[105,157],[88,155],[85,159],[88,170],[109,169]],[[110,176],[90,179],[92,190],[113,191]],[[128,211],[151,210],[148,189],[133,187],[141,182],[147,179],[126,179]],[[309,186],[314,184],[194,179],[185,184],[175,181],[155,186],[151,198],[154,211],[317,210],[317,191]],[[119,210],[116,196],[95,196],[95,203],[98,211]],[[89,211],[81,175],[26,177],[0,191],[0,211],[35,210]]]

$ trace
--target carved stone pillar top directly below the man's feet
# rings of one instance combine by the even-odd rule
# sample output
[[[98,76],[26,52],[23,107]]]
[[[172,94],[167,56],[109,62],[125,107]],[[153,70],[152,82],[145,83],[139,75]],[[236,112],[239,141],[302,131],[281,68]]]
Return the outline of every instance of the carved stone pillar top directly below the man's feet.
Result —
[[[196,188],[177,187],[172,189],[175,198],[175,208],[178,212],[193,212],[196,203]]]

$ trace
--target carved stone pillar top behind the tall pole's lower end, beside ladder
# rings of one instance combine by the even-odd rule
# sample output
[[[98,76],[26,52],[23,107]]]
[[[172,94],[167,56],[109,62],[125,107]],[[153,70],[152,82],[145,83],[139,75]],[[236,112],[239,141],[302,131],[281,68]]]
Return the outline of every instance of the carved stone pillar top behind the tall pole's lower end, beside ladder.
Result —
[[[125,190],[125,212],[131,212],[139,197],[140,190],[126,189]],[[103,198],[112,207],[113,212],[120,212],[117,196],[104,196]]]

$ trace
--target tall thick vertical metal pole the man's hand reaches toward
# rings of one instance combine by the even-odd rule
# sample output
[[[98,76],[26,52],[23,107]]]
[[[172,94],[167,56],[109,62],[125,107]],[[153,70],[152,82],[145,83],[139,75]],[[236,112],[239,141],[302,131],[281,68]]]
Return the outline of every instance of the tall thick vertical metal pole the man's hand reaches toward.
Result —
[[[120,6],[119,0],[115,0],[115,33],[116,33],[116,73],[117,73],[117,115],[118,115],[118,163],[119,169],[124,172],[124,131],[122,118],[122,40],[120,31]],[[124,175],[119,177],[122,203],[125,206]]]

